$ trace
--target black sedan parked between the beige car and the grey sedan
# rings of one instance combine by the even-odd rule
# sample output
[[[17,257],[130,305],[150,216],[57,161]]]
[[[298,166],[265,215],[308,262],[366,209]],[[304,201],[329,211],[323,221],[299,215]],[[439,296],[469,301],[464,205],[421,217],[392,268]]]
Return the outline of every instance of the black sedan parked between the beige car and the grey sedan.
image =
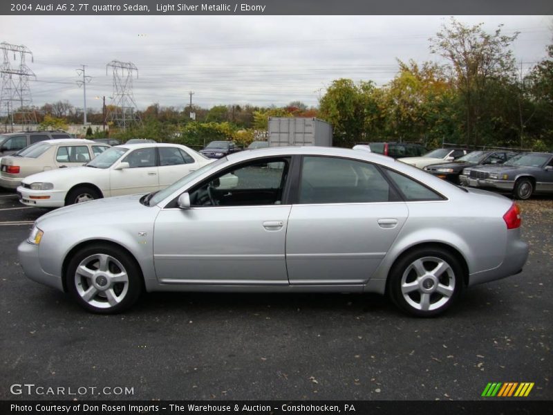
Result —
[[[423,170],[458,185],[460,184],[459,175],[463,169],[476,165],[500,165],[516,154],[514,151],[505,150],[471,151],[451,163],[428,165]]]

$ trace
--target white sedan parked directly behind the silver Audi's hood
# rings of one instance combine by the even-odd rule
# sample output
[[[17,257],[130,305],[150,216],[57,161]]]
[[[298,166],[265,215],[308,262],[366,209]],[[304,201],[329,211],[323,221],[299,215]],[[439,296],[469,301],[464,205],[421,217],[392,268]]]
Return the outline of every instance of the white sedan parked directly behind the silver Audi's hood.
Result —
[[[155,192],[212,163],[176,144],[129,144],[111,147],[82,167],[32,174],[17,187],[20,202],[59,208],[122,194]]]

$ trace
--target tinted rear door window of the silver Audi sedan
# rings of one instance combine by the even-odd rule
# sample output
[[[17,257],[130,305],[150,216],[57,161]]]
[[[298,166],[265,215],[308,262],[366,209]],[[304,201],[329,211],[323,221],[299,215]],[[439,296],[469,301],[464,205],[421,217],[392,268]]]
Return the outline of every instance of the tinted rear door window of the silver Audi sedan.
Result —
[[[299,203],[371,203],[395,200],[375,165],[334,157],[305,157]]]

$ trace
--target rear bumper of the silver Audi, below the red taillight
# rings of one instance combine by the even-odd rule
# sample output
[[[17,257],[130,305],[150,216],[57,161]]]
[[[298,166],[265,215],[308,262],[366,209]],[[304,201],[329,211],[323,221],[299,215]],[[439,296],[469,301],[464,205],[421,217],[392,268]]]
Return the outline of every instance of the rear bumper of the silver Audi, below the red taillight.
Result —
[[[520,228],[508,230],[505,259],[503,259],[501,265],[491,270],[469,275],[469,286],[521,273],[523,266],[526,264],[528,259],[528,252],[528,244],[521,239]]]

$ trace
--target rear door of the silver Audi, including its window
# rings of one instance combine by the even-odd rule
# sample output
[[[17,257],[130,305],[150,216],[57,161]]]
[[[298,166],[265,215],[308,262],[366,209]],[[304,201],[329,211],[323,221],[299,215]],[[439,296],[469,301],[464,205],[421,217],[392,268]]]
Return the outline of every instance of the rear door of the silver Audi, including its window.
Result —
[[[346,158],[305,156],[286,237],[290,284],[364,284],[408,216],[379,169]]]

